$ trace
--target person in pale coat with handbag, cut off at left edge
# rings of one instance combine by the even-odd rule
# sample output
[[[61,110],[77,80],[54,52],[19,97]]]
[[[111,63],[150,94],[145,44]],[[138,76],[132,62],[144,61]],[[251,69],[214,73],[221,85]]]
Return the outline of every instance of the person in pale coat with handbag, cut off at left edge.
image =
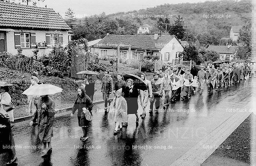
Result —
[[[8,107],[12,104],[12,98],[10,96],[9,92],[9,87],[8,86],[0,86],[0,104],[3,105],[4,109],[5,107]],[[8,111],[6,110],[10,122],[14,122],[14,115],[13,115],[13,109]]]

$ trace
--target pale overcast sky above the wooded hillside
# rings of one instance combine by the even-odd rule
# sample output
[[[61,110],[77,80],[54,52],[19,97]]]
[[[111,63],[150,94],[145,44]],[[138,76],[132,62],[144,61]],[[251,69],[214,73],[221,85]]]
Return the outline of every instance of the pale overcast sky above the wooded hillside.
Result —
[[[117,12],[128,12],[133,10],[139,10],[155,7],[157,5],[170,3],[197,3],[204,2],[206,0],[45,0],[39,2],[37,6],[53,8],[56,12],[59,12],[62,16],[65,15],[65,11],[71,8],[76,15],[93,15],[101,14],[105,12],[106,15]],[[30,3],[30,5],[32,5]]]

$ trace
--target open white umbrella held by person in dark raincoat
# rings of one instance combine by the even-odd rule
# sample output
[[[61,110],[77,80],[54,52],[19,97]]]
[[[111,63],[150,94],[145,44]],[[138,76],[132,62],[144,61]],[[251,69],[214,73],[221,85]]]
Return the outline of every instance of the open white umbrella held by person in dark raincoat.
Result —
[[[51,85],[51,84],[39,84],[34,85],[27,90],[25,90],[22,94],[24,95],[53,95],[59,92],[62,92],[62,88]]]

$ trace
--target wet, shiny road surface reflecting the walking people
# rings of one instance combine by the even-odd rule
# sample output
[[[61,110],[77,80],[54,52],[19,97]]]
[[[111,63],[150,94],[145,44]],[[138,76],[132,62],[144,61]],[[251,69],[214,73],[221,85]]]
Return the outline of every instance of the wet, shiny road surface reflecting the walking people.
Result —
[[[16,149],[19,166],[170,165],[236,113],[229,109],[249,104],[253,82],[255,79],[243,81],[211,95],[204,90],[189,101],[171,105],[168,112],[153,116],[147,113],[144,120],[140,118],[138,127],[135,115],[131,115],[127,129],[116,136],[114,122],[108,121],[103,112],[103,103],[95,105],[89,139],[84,143],[79,140],[82,130],[76,114],[58,117],[54,123],[53,152],[47,159],[40,156],[37,127],[30,127],[29,121],[16,123],[12,131],[16,146],[20,146]],[[140,108],[139,114],[141,111]]]

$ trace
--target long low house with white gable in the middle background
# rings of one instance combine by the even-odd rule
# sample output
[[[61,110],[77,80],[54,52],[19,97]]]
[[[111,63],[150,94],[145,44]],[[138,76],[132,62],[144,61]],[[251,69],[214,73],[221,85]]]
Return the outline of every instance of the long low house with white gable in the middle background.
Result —
[[[113,35],[107,34],[91,47],[91,52],[101,57],[116,56],[120,48],[122,59],[143,59],[148,54],[159,56],[160,60],[172,62],[184,50],[181,42],[174,35]]]

